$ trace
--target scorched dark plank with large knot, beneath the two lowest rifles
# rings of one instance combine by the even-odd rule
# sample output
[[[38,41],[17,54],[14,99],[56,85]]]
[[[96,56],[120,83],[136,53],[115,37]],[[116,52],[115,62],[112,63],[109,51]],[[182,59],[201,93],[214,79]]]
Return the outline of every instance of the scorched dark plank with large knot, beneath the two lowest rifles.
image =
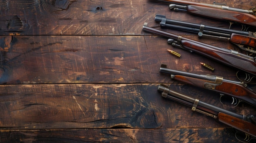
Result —
[[[161,97],[158,84],[29,84],[0,86],[1,129],[220,128],[227,127]],[[171,89],[226,108],[216,92],[188,85]],[[205,93],[207,92],[207,95]],[[256,114],[241,103],[226,108]]]

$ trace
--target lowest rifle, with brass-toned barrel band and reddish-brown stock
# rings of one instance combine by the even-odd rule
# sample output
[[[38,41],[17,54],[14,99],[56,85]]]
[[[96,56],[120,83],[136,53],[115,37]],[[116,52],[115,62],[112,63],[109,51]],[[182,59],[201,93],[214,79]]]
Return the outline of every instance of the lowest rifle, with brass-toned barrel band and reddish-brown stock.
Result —
[[[162,92],[162,97],[190,106],[192,107],[192,111],[206,114],[207,116],[218,119],[218,121],[225,123],[232,128],[256,137],[256,123],[254,121],[253,115],[245,116],[243,114],[237,114],[222,108],[218,108],[211,104],[199,101],[198,99],[193,99],[186,95],[170,90],[169,86],[164,84],[160,84],[157,90]],[[249,141],[249,139],[245,139],[245,141]]]

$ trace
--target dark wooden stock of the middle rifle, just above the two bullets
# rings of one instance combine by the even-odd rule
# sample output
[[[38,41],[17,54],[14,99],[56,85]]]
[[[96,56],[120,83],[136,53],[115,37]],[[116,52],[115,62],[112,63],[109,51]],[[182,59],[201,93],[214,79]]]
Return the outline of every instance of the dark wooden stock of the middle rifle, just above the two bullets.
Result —
[[[244,58],[238,52],[232,53],[226,52],[221,48],[212,48],[203,44],[198,44],[198,42],[192,42],[188,40],[181,40],[180,44],[183,48],[195,51],[206,57],[215,59],[216,61],[222,62],[229,66],[233,66],[240,70],[244,70],[247,73],[256,75],[256,62],[254,59]]]

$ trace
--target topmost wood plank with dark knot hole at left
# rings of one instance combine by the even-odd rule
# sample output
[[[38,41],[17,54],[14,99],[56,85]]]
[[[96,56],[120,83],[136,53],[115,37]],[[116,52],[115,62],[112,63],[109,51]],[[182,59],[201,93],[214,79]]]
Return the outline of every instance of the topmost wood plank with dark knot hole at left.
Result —
[[[254,0],[221,2],[242,9],[256,5]],[[168,4],[149,0],[3,0],[0,5],[0,35],[140,35],[144,22],[158,25],[154,22],[155,14],[212,26],[229,25],[173,12]]]

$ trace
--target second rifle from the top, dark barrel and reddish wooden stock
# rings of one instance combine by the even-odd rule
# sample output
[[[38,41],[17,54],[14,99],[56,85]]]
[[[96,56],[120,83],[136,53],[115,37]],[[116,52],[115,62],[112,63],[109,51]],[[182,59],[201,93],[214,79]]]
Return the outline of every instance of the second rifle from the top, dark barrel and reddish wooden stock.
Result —
[[[195,32],[198,33],[199,37],[207,36],[229,40],[245,51],[256,53],[255,50],[251,49],[256,48],[256,32],[253,33],[250,31],[247,32],[233,29],[224,29],[213,26],[206,26],[203,24],[171,20],[166,19],[166,16],[159,14],[155,15],[155,21],[160,22],[161,27]],[[248,48],[247,46],[251,48]]]

